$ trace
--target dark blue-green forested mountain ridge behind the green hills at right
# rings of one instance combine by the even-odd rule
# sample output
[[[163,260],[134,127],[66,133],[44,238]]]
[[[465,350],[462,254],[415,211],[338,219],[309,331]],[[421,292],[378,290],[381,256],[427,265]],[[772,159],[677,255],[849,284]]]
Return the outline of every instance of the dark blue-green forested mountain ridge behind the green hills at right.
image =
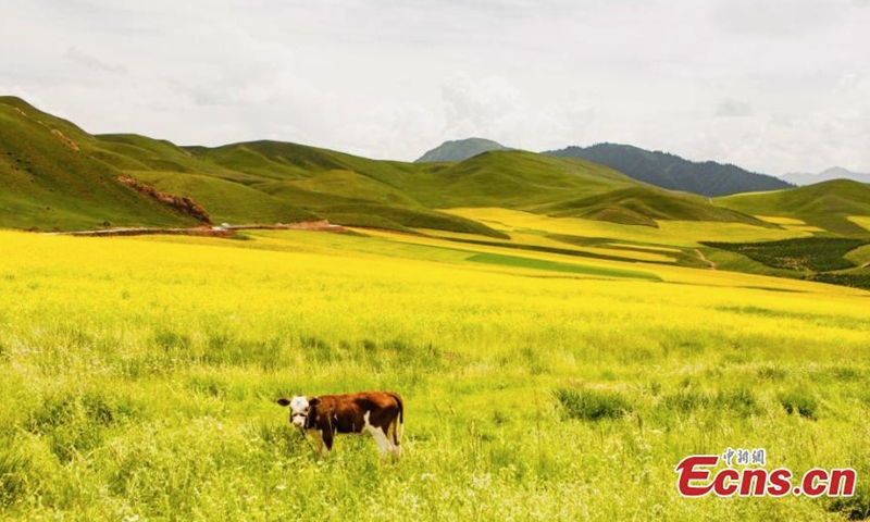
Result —
[[[545,154],[580,158],[610,166],[639,182],[669,190],[701,196],[728,196],[739,192],[776,190],[791,185],[773,176],[745,171],[713,161],[694,162],[664,152],[651,152],[629,145],[598,144],[568,147]]]

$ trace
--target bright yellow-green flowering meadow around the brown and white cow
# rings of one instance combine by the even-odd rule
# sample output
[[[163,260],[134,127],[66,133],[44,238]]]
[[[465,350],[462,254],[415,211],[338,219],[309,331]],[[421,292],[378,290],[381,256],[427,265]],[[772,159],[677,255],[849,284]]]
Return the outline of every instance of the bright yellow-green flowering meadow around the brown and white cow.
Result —
[[[585,235],[641,259],[383,232],[0,232],[0,519],[870,517],[870,293],[667,262],[806,232],[482,212],[531,244],[608,228]],[[406,400],[398,463],[348,436],[320,459],[274,402],[375,388]],[[858,490],[681,497],[676,463],[729,447],[796,475],[855,468]]]

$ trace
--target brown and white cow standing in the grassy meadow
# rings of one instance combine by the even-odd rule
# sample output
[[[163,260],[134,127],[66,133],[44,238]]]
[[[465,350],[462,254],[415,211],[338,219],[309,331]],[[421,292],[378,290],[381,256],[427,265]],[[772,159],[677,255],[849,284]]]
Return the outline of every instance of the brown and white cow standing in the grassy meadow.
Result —
[[[290,407],[290,424],[302,434],[314,436],[323,457],[333,448],[336,433],[370,433],[377,443],[381,456],[398,458],[401,455],[401,432],[405,424],[405,405],[391,391],[360,391],[356,394],[298,395],[277,400]]]

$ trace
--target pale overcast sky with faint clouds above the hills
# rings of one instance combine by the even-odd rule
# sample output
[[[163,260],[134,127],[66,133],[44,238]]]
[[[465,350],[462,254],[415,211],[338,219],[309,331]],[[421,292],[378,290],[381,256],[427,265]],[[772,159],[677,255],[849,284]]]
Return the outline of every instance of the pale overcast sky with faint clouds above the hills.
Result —
[[[90,133],[414,160],[478,136],[870,172],[870,0],[0,0],[0,94]]]

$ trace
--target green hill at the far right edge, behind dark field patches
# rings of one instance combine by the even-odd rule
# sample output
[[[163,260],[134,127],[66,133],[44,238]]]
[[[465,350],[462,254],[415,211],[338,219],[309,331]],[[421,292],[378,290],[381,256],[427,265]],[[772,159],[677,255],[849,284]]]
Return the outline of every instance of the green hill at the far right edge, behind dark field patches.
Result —
[[[849,179],[771,192],[741,194],[717,198],[716,202],[754,215],[797,217],[845,236],[870,235],[848,220],[852,215],[870,215],[870,185]]]

